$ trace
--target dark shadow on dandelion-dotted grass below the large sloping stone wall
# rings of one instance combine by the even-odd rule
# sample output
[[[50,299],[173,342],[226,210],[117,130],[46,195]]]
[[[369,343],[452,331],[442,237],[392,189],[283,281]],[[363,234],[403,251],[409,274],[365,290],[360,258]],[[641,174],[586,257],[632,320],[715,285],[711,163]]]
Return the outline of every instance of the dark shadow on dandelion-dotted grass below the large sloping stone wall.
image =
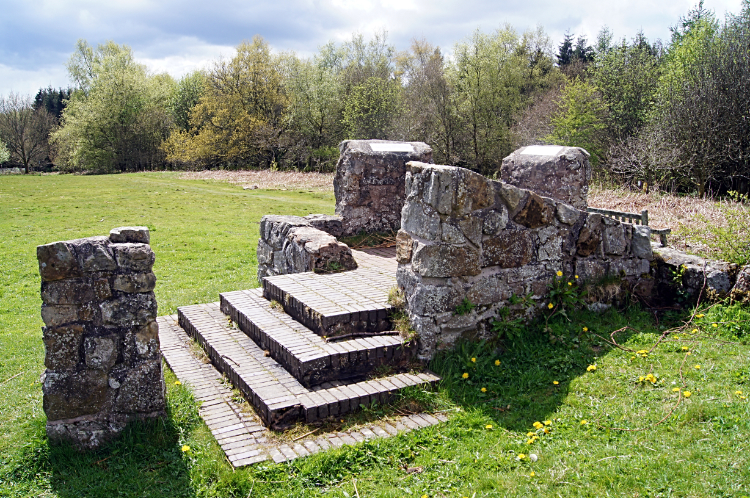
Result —
[[[514,341],[462,342],[438,355],[430,367],[443,378],[441,390],[453,403],[524,432],[534,422],[552,418],[571,382],[611,351],[612,346],[591,332],[609,338],[626,325],[660,333],[653,316],[637,306],[604,314],[579,311],[570,320],[559,315],[550,320],[551,333],[544,331],[543,321],[536,321]],[[633,333],[619,333],[618,343]]]

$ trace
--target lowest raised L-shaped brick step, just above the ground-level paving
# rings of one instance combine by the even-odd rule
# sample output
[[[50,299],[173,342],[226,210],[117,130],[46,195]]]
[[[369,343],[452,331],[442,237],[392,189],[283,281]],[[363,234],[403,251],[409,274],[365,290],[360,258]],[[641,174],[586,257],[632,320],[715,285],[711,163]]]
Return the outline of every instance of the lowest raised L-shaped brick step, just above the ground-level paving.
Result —
[[[308,389],[233,327],[219,303],[184,306],[177,311],[179,326],[198,341],[216,368],[242,392],[263,423],[274,430],[302,420],[311,423],[343,415],[372,403],[386,403],[401,389],[432,386],[440,380],[429,372],[400,373]]]

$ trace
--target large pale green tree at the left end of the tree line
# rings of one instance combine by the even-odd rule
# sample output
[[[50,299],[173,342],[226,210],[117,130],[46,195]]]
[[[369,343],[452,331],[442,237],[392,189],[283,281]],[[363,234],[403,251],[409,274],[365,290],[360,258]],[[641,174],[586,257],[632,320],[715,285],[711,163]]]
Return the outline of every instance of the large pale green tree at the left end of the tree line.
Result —
[[[159,146],[171,126],[171,77],[149,74],[128,46],[107,42],[94,49],[84,40],[68,72],[78,90],[52,136],[61,169],[119,172],[163,164]]]

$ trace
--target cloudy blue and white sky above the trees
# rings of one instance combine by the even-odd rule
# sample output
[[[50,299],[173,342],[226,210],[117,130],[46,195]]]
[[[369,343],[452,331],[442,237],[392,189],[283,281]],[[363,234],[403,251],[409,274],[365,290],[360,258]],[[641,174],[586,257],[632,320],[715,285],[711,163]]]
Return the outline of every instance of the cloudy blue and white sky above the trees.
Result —
[[[669,40],[697,0],[2,0],[0,96],[34,94],[71,84],[65,64],[78,39],[92,45],[128,45],[153,72],[175,78],[231,58],[234,47],[261,35],[276,51],[311,56],[323,44],[367,39],[385,30],[388,42],[408,49],[425,39],[450,54],[479,29],[505,23],[523,32],[544,28],[556,48],[566,31],[593,44],[603,26],[615,40],[643,30]],[[741,0],[705,0],[721,19]]]

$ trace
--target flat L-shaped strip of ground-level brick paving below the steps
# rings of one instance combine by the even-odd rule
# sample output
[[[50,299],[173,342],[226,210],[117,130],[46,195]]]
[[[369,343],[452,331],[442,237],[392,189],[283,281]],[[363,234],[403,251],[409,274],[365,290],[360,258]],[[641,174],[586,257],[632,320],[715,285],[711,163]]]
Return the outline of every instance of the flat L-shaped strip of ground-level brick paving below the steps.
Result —
[[[316,433],[288,443],[278,442],[257,416],[243,411],[232,399],[231,391],[222,383],[222,375],[213,365],[203,363],[191,352],[191,340],[178,325],[177,315],[159,317],[157,322],[164,359],[180,382],[192,389],[196,401],[201,403],[201,417],[234,467],[266,460],[282,463],[345,444],[391,437],[448,420],[441,413],[415,414],[346,432]]]

